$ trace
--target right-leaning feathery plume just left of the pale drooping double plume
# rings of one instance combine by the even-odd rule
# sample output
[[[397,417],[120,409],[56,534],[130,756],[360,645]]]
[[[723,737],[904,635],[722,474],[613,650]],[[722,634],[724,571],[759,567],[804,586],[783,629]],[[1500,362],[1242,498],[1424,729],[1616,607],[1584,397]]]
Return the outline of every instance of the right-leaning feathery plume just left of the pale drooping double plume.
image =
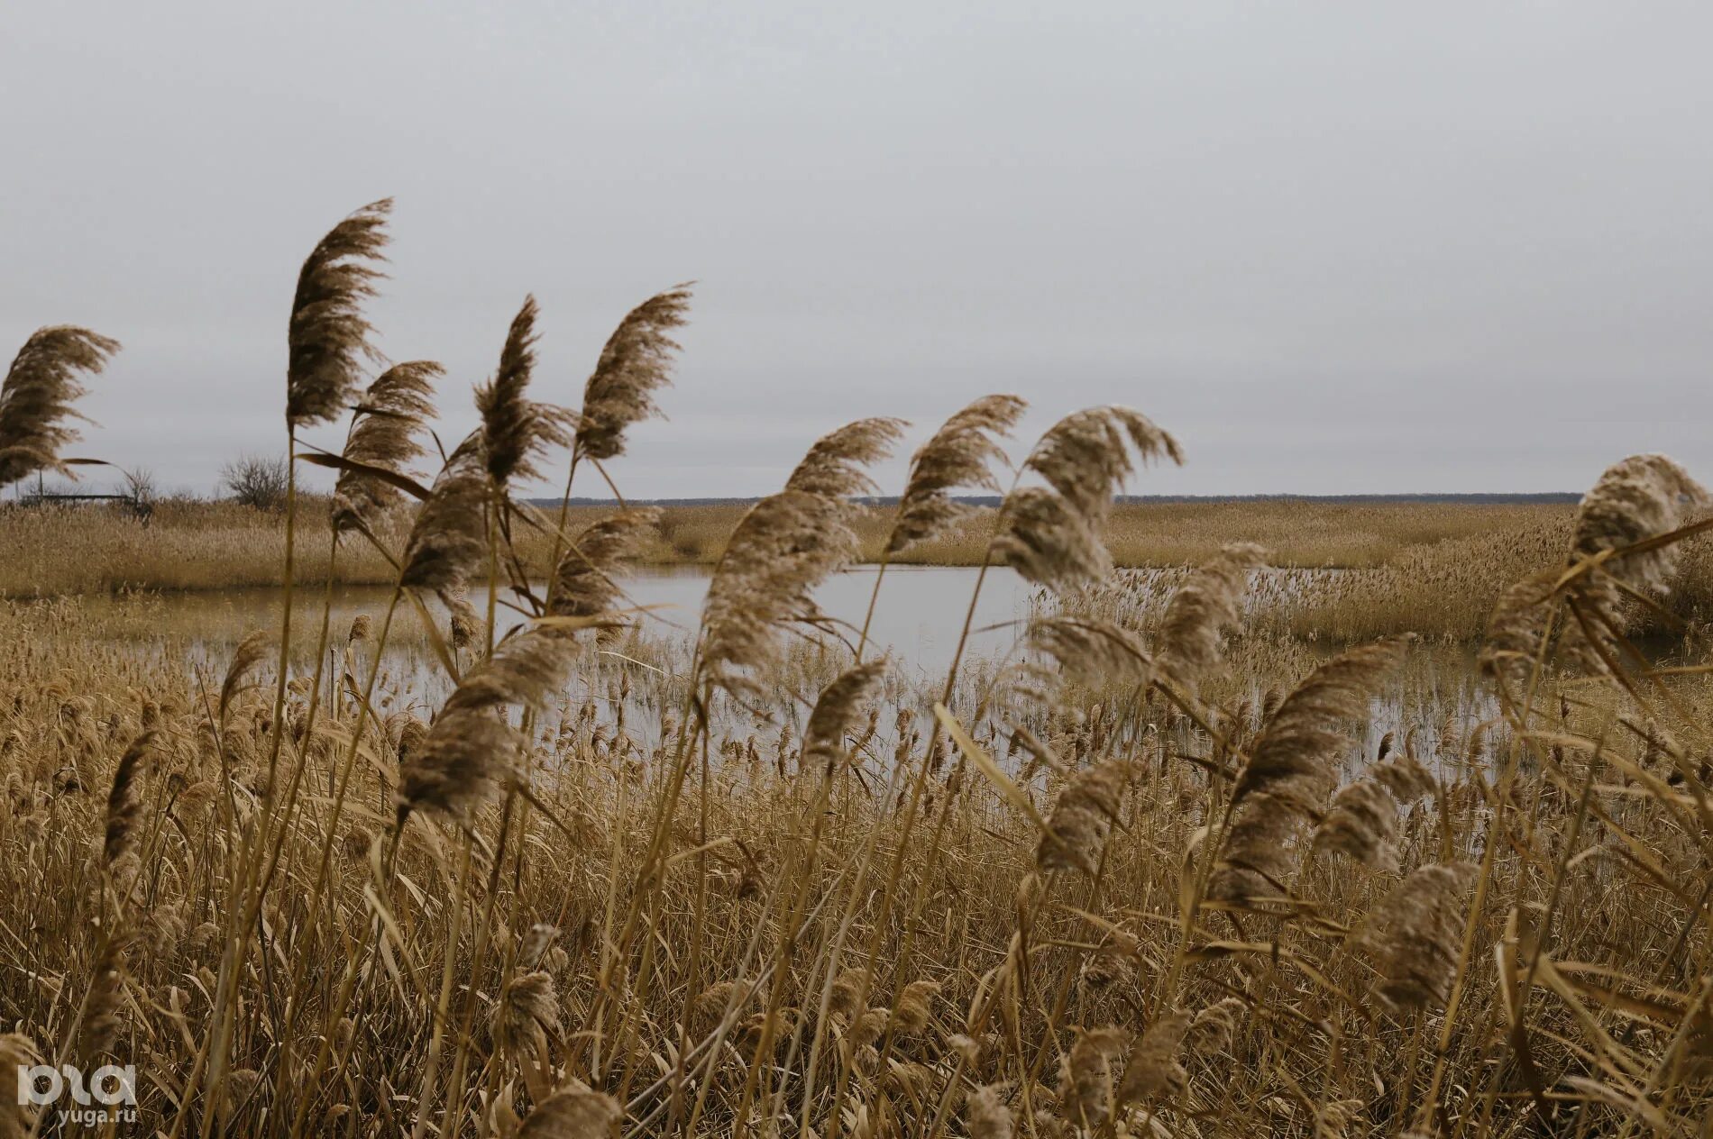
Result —
[[[992,462],[1004,461],[999,438],[1011,433],[1028,404],[1016,396],[983,396],[946,420],[910,459],[910,480],[898,500],[898,521],[886,541],[886,553],[903,553],[964,517],[970,507],[954,502],[954,490],[999,493]]]

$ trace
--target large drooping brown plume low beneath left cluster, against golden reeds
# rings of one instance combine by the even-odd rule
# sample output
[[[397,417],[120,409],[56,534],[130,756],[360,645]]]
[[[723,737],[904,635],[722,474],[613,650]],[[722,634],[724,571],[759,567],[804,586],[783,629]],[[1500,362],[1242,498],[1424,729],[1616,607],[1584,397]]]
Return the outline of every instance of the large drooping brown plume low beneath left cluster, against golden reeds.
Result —
[[[459,680],[421,747],[399,762],[397,824],[413,810],[469,827],[493,784],[519,774],[529,740],[505,718],[509,706],[541,711],[565,682],[577,642],[555,629],[516,634]]]

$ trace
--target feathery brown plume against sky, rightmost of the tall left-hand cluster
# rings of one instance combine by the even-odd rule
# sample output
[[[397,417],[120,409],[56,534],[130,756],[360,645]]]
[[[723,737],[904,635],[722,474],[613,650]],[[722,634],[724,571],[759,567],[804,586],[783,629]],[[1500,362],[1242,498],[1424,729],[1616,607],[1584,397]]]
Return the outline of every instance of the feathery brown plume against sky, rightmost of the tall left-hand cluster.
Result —
[[[690,308],[690,286],[677,284],[632,308],[601,348],[582,387],[574,456],[612,459],[624,454],[625,430],[660,414],[654,392],[671,384],[671,331]]]

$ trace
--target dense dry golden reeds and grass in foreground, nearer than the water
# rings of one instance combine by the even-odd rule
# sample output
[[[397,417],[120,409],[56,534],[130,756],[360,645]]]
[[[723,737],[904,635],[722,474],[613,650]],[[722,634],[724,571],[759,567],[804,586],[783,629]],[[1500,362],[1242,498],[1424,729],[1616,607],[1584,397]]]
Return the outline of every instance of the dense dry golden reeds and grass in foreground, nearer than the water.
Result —
[[[149,1081],[180,1084],[195,1065],[233,865],[266,790],[267,699],[242,690],[221,721],[207,706],[216,673],[199,677],[175,651],[152,658],[116,649],[103,618],[63,603],[14,606],[0,617],[0,635],[33,646],[9,656],[0,671],[9,790],[0,846],[14,899],[5,918],[14,937],[3,951],[10,968],[0,980],[14,1009],[9,1028],[51,1052],[75,1019],[99,964],[93,920],[106,788],[132,742],[152,730],[142,812],[132,824],[146,872],[127,903],[137,940],[125,954],[128,997],[113,1048],[146,1072],[146,1117],[170,1127],[168,1100]],[[367,670],[368,647],[358,644],[349,656],[355,677]],[[1230,733],[1223,743],[1158,697],[1131,702],[1107,692],[1067,692],[1045,711],[1018,706],[978,731],[987,752],[1021,779],[1033,814],[1052,819],[1065,839],[1081,831],[1064,824],[1072,807],[1062,788],[1122,757],[1122,776],[1107,790],[1117,800],[1115,826],[1095,826],[1077,839],[1098,877],[1038,872],[1042,831],[1023,802],[956,754],[925,750],[923,713],[894,723],[899,711],[920,707],[915,694],[896,687],[874,725],[858,719],[845,736],[856,742],[856,760],[841,766],[831,784],[824,759],[802,757],[798,730],[781,735],[733,716],[711,733],[706,781],[692,774],[668,807],[683,762],[673,707],[682,685],[615,658],[582,661],[572,695],[543,718],[529,752],[543,808],[514,815],[504,858],[478,868],[464,897],[454,992],[473,983],[481,993],[471,1012],[471,1112],[480,1112],[478,1089],[486,1088],[509,1089],[512,1106],[528,1115],[533,1082],[545,1088],[577,1076],[629,1103],[629,1125],[646,1118],[649,1134],[683,1130],[697,1113],[697,1130],[716,1134],[730,1130],[740,1112],[797,1117],[805,1108],[802,1052],[821,1026],[822,1091],[809,1105],[821,1134],[833,1129],[834,1105],[845,1130],[860,1132],[880,1117],[891,1120],[887,1130],[915,1125],[930,1134],[939,1117],[942,1134],[963,1134],[966,1091],[1000,1082],[1002,1103],[1021,1117],[1026,1079],[1035,1081],[1031,1112],[1074,1122],[1079,1117],[1067,1120],[1067,1112],[1098,1112],[1110,1094],[1098,1081],[1077,1093],[1093,1098],[1089,1108],[1055,1091],[1060,1057],[1074,1055],[1074,1026],[1141,1033],[1167,1000],[1196,1014],[1235,999],[1230,1040],[1180,1048],[1175,1062],[1185,1070],[1177,1089],[1125,1112],[1158,1112],[1168,1127],[1194,1118],[1203,1134],[1317,1134],[1317,1113],[1338,1103],[1348,1115],[1341,1134],[1403,1130],[1427,1103],[1446,1021],[1432,1011],[1388,1011],[1370,995],[1386,968],[1412,968],[1394,961],[1401,951],[1376,951],[1358,939],[1367,915],[1382,913],[1396,874],[1304,853],[1290,882],[1290,913],[1209,908],[1184,935],[1182,860],[1196,865],[1197,827],[1218,819],[1227,796],[1228,784],[1213,772],[1228,767],[1233,745],[1254,731],[1259,694],[1288,685],[1312,663],[1264,641],[1235,649],[1232,675],[1208,692],[1209,707],[1230,709],[1213,719]],[[266,678],[266,665],[262,671]],[[783,682],[812,690],[814,682],[793,671],[783,668]],[[279,1101],[308,1103],[308,1129],[317,1134],[408,1125],[459,896],[456,831],[411,826],[391,879],[375,862],[392,819],[401,750],[411,747],[408,726],[428,713],[404,711],[415,692],[396,683],[375,697],[382,726],[363,733],[363,766],[341,817],[334,820],[317,793],[284,834],[281,880],[262,908],[262,940],[247,966],[247,1004],[233,1038],[233,1067],[260,1072],[264,1088],[284,1081],[293,1096]],[[1400,817],[1394,846],[1405,870],[1478,862],[1499,826],[1516,839],[1494,862],[1461,971],[1453,937],[1453,978],[1463,976],[1466,992],[1439,1081],[1447,1118],[1470,1134],[1535,1113],[1555,1127],[1581,1122],[1605,1132],[1626,1118],[1612,1093],[1639,1094],[1650,1082],[1650,1112],[1679,1120],[1704,1115],[1713,1089],[1696,1072],[1706,1070],[1708,1057],[1694,1052],[1706,1047],[1694,1045],[1704,1029],[1694,1036],[1686,1016],[1706,999],[1713,968],[1706,831],[1698,839],[1694,822],[1704,793],[1674,779],[1677,760],[1663,730],[1650,740],[1614,721],[1636,709],[1610,689],[1567,689],[1574,701],[1567,718],[1559,721],[1554,699],[1550,723],[1542,725],[1555,742],[1530,747],[1514,728],[1489,726],[1478,706],[1459,702],[1466,683],[1454,656],[1418,651],[1381,711],[1394,740],[1408,740],[1396,747],[1442,781]],[[973,714],[980,687],[971,682],[954,707]],[[1245,692],[1256,695],[1245,701]],[[1691,718],[1687,725],[1674,718],[1675,730],[1694,730],[1713,713],[1713,692],[1701,682],[1680,682],[1672,695]],[[608,699],[627,709],[622,723]],[[288,721],[301,725],[307,713],[307,694],[298,692]],[[779,713],[788,725],[807,723],[802,707]],[[317,726],[291,742],[288,762],[303,764],[308,783],[325,790],[355,721],[355,697],[325,706]],[[1045,760],[1007,745],[1011,726],[1028,726],[1043,742]],[[1350,736],[1336,752],[1338,767],[1360,772],[1377,735],[1379,725]],[[1593,740],[1602,735],[1609,752],[1597,757]],[[1501,793],[1494,783],[1513,757],[1521,766]],[[899,781],[918,771],[928,772],[927,805],[911,827]],[[1704,767],[1699,778],[1706,779]],[[829,814],[821,810],[822,795]],[[1101,810],[1091,820],[1103,819]],[[498,807],[478,812],[475,826],[492,844],[502,829]],[[661,839],[671,855],[642,874]],[[329,841],[332,862],[317,901]],[[397,927],[385,932],[384,947],[373,940],[379,903],[365,889],[379,891]],[[620,956],[624,915],[644,903],[658,952],[649,957],[646,945],[632,945]],[[1494,951],[1504,969],[1521,971],[1533,945],[1525,933],[1538,930],[1545,913],[1574,920],[1555,925],[1550,956],[1540,957],[1554,971],[1537,980],[1516,1014],[1526,1026],[1530,1069],[1507,1036],[1501,988],[1507,973]],[[1453,916],[1461,935],[1461,909]],[[528,956],[522,935],[536,923],[560,933],[534,954],[540,968],[531,971],[519,959]],[[486,952],[476,945],[480,928],[488,930]],[[339,980],[353,961],[363,963],[361,980],[341,1004]],[[865,1007],[886,1012],[875,1021],[879,1031],[863,1028],[862,1009],[815,1012],[829,980],[870,963]],[[1168,987],[1173,971],[1180,976]],[[502,1033],[492,1002],[509,1000],[502,990],[516,992],[538,973],[546,978],[529,981],[541,990],[534,1004]],[[925,1014],[887,1033],[884,1021],[916,981],[935,983]],[[298,1023],[288,1029],[295,1004]],[[769,1024],[776,1040],[764,1055],[783,1062],[795,1041],[790,1065],[761,1064]],[[1680,1031],[1686,1043],[1675,1047]],[[656,1086],[677,1070],[675,1053],[716,1036],[711,1052],[689,1053],[699,1079],[677,1093],[671,1079]],[[310,1081],[324,1038],[351,1053]],[[289,1076],[271,1069],[286,1040],[295,1045]],[[704,1062],[711,1070],[701,1070]],[[1545,1086],[1540,1103],[1530,1094],[1531,1079]],[[260,1134],[267,1120],[284,1127],[271,1103],[255,1096],[238,1105],[231,1129]],[[1018,1127],[1026,1134],[1021,1120]],[[476,1132],[475,1118],[466,1132]]]

